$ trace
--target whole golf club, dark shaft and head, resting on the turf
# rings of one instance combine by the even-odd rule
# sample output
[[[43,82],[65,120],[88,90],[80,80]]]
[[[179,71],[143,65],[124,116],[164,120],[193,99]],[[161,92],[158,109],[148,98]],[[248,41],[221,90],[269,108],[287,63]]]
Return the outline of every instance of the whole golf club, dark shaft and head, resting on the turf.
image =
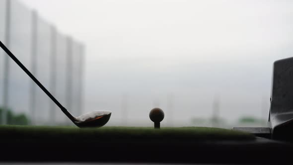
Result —
[[[77,127],[101,127],[105,125],[111,116],[111,111],[92,111],[78,117],[74,117],[61,103],[40,83],[25,67],[24,65],[6,48],[0,41],[0,47],[7,53],[7,55],[55,102],[55,104],[65,113],[65,115]]]

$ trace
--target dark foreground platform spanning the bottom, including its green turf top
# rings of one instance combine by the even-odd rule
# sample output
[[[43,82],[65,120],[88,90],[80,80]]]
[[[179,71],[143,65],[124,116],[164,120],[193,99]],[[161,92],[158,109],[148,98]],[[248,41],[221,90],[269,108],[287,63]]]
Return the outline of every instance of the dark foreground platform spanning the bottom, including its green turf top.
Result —
[[[0,126],[1,162],[293,163],[293,145],[205,127]]]

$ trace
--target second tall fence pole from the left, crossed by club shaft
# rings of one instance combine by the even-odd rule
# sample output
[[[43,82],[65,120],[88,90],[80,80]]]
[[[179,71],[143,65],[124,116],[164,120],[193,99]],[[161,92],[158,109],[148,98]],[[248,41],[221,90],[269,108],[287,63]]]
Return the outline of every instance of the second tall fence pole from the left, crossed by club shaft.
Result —
[[[37,30],[38,30],[38,15],[36,11],[32,11],[32,38],[31,38],[31,73],[36,75],[37,71]],[[31,124],[36,123],[36,84],[30,83],[30,112],[31,112]]]

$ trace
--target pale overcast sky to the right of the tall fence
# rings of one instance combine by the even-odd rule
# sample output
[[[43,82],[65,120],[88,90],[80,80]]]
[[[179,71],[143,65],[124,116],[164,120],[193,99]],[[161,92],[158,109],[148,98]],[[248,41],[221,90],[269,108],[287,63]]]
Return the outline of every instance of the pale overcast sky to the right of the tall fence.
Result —
[[[112,125],[123,95],[133,123],[154,106],[166,123],[210,117],[215,97],[230,122],[264,117],[272,64],[293,53],[291,0],[21,1],[86,45],[83,112],[111,110]]]

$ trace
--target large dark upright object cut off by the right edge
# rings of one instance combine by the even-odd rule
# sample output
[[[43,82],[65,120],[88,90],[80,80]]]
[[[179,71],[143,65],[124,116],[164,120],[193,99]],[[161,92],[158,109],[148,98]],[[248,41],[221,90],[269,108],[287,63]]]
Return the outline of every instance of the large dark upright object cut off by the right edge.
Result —
[[[293,139],[293,57],[274,62],[268,125],[273,139]]]

